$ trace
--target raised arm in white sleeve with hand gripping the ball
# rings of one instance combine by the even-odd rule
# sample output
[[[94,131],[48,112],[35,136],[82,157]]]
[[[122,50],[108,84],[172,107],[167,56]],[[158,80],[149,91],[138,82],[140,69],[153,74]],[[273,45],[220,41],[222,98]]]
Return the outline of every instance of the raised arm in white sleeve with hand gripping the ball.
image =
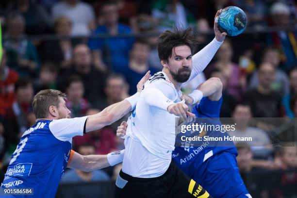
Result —
[[[210,42],[203,49],[198,51],[193,55],[193,69],[191,76],[187,82],[195,78],[199,73],[201,73],[205,67],[210,63],[210,61],[214,58],[214,54],[220,48],[223,43],[227,33],[221,33],[218,30],[217,18],[220,14],[221,10],[218,10],[214,16],[214,35],[215,38],[212,42]]]

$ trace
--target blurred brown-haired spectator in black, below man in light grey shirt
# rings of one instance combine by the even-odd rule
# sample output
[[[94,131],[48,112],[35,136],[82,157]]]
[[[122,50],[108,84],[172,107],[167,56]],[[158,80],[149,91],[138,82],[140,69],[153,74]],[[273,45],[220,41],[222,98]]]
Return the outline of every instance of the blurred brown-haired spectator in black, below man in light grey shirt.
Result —
[[[54,22],[54,29],[57,36],[70,36],[72,23],[67,16],[59,16]],[[40,47],[40,57],[43,62],[53,62],[56,66],[67,69],[71,66],[73,46],[76,43],[78,41],[73,39],[46,41]]]

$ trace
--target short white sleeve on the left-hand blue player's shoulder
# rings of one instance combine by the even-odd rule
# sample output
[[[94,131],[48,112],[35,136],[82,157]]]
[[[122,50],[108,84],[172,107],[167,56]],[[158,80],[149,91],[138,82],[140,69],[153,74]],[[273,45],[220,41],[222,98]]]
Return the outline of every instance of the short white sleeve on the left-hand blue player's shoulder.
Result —
[[[88,116],[52,120],[50,132],[61,141],[69,141],[76,135],[83,135],[83,127]]]

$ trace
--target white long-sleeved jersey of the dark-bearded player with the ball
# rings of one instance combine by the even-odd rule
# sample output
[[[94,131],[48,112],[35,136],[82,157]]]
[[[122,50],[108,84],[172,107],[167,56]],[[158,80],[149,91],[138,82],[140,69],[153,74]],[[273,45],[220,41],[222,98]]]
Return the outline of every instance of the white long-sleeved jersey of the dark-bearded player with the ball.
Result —
[[[195,78],[209,64],[222,42],[214,39],[193,56],[190,75]],[[153,178],[165,173],[175,144],[175,118],[167,107],[181,102],[181,91],[164,72],[158,72],[144,85],[135,110],[127,123],[122,171],[133,177]]]

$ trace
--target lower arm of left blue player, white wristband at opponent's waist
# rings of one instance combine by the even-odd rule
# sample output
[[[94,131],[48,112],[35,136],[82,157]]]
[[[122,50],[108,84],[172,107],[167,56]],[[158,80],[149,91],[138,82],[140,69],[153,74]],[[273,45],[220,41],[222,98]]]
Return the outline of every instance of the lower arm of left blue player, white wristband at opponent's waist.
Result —
[[[70,156],[67,167],[89,172],[110,165],[113,166],[123,161],[124,151],[125,150],[115,151],[107,155],[81,155],[72,150],[72,156]]]

